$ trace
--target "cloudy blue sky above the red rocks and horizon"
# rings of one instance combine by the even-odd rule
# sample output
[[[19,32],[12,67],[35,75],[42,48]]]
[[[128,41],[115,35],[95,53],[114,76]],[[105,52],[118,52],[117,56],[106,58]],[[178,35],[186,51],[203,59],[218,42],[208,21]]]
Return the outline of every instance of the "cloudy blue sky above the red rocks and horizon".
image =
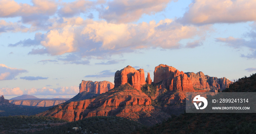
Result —
[[[0,94],[72,98],[159,64],[237,80],[256,72],[255,0],[0,0]]]

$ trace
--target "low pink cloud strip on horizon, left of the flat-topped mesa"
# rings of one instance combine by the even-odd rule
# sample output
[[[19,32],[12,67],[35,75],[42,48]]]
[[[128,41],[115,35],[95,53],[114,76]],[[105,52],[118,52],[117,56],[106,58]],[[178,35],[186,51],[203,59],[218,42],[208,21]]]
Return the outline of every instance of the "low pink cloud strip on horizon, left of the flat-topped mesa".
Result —
[[[79,87],[58,87],[58,88],[30,88],[25,89],[24,94],[29,95],[75,95],[79,93]]]

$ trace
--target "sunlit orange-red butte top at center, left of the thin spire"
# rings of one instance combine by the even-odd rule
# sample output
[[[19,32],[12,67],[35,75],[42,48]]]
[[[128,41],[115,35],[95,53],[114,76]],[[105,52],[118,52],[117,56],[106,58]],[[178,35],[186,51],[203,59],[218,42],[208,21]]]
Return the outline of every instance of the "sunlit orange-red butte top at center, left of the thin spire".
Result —
[[[118,87],[126,83],[129,83],[133,88],[141,91],[140,85],[146,84],[144,70],[136,70],[131,66],[127,66],[120,71],[116,71],[114,87]]]

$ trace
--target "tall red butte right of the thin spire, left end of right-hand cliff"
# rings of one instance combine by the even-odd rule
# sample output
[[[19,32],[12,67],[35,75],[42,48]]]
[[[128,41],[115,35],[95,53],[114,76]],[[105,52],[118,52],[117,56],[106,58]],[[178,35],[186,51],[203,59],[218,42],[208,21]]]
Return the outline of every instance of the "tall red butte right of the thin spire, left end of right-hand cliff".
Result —
[[[160,64],[155,67],[154,83],[160,83],[161,88],[167,88],[173,91],[193,92],[195,91],[190,78],[183,71],[178,71],[172,66]]]

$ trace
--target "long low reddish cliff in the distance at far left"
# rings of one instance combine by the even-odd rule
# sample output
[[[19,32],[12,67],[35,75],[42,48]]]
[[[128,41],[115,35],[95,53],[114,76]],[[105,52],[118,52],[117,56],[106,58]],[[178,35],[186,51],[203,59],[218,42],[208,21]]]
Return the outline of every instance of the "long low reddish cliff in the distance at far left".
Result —
[[[8,102],[15,104],[15,105],[23,105],[23,106],[37,106],[37,107],[49,107],[55,106],[60,103],[64,103],[68,100],[42,100],[42,99],[35,99],[35,100],[8,100]]]

